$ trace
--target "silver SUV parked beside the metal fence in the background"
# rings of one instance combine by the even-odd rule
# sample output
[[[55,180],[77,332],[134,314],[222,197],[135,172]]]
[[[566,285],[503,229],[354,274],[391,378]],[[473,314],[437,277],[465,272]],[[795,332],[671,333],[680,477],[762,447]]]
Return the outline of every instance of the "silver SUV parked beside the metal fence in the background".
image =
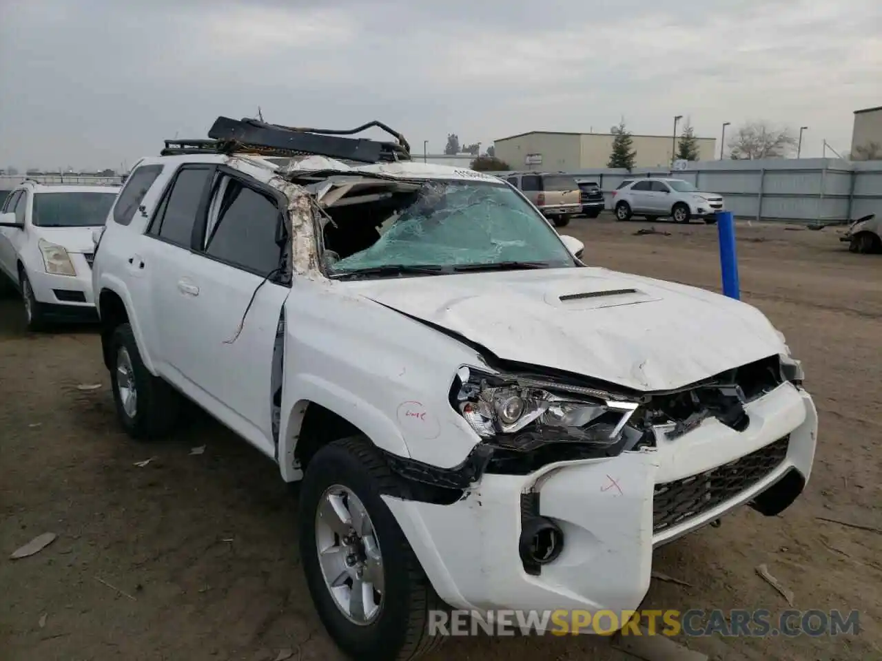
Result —
[[[722,196],[706,193],[683,179],[626,179],[613,192],[613,209],[618,220],[643,216],[647,220],[671,218],[676,223],[702,219],[715,223],[723,210]]]

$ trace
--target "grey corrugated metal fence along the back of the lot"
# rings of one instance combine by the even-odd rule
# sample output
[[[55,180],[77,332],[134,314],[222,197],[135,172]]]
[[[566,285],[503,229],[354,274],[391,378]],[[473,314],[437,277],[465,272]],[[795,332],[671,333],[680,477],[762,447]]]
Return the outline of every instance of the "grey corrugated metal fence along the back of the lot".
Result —
[[[882,161],[838,159],[706,160],[686,170],[659,167],[575,170],[568,174],[600,184],[608,209],[625,179],[676,177],[726,198],[739,218],[846,222],[882,216]],[[494,173],[505,176],[505,173]]]

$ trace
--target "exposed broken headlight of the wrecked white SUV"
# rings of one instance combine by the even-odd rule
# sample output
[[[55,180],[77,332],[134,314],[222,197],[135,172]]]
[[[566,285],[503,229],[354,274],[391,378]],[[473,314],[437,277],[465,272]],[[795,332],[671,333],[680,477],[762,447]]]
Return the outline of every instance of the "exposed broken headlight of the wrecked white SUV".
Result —
[[[482,439],[528,451],[549,442],[621,441],[639,403],[602,390],[460,368],[451,404]]]

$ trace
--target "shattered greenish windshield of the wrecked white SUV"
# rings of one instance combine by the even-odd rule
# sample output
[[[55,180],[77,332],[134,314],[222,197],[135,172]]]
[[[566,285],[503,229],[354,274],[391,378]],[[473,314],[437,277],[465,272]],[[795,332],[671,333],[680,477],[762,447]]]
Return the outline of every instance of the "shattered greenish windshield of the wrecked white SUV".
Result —
[[[545,219],[503,182],[430,181],[364,193],[370,191],[328,209],[324,257],[331,276],[576,265]]]

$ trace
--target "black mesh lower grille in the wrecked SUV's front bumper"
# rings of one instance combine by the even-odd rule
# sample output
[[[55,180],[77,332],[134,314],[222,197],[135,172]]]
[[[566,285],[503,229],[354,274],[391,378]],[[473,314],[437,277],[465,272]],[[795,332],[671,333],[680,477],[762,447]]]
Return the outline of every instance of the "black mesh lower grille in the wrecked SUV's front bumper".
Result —
[[[784,436],[712,471],[655,485],[653,533],[700,516],[755,485],[781,465],[789,441],[790,437]]]

